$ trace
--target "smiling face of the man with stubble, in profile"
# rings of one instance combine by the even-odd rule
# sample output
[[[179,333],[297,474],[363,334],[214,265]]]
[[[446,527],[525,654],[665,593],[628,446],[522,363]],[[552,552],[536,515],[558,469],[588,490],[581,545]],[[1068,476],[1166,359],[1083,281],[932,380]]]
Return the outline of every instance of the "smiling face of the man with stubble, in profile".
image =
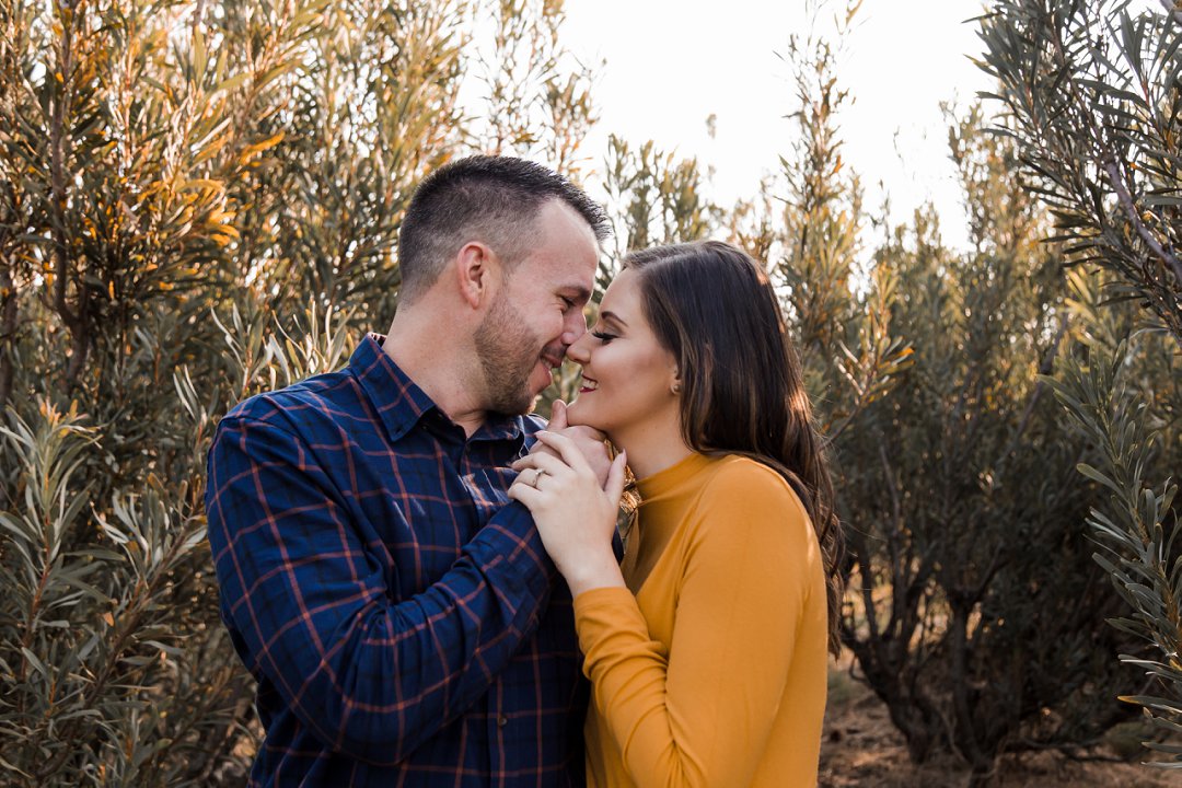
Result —
[[[487,408],[525,413],[551,383],[566,349],[586,332],[598,247],[573,208],[552,200],[538,213],[537,242],[511,269],[476,328]]]

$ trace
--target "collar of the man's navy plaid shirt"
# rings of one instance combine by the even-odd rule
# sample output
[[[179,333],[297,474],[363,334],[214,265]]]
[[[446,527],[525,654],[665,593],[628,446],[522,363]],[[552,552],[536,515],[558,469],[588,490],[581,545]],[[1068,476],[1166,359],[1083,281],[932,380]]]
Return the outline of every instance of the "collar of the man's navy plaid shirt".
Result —
[[[377,410],[391,441],[398,441],[424,417],[442,417],[447,413],[420,389],[402,369],[387,356],[382,346],[385,337],[366,334],[352,357],[349,369],[365,390],[370,403]],[[522,416],[492,416],[472,435],[473,441],[522,441],[525,437]]]

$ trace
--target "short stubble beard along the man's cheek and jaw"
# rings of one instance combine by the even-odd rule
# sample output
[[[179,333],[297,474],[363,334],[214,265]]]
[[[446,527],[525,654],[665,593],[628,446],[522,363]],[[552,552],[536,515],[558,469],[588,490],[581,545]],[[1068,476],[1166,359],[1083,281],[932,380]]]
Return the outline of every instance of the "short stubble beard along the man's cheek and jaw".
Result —
[[[476,327],[474,340],[488,410],[511,416],[530,412],[537,397],[530,390],[530,376],[540,349],[504,292]]]

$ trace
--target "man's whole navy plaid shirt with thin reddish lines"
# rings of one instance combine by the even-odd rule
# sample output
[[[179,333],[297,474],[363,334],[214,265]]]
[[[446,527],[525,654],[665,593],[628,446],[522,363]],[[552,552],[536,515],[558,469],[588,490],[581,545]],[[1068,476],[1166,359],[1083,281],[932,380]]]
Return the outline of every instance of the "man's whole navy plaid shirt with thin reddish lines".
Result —
[[[266,730],[251,786],[582,786],[570,593],[507,468],[366,337],[219,424],[206,508]]]

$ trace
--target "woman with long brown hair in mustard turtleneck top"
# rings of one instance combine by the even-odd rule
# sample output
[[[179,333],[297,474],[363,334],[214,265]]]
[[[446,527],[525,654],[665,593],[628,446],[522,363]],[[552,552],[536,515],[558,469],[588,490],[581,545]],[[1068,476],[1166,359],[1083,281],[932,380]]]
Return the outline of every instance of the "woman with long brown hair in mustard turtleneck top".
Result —
[[[606,490],[541,432],[509,496],[574,595],[589,784],[814,786],[842,539],[767,278],[720,242],[632,253],[569,356],[567,419],[621,449]],[[625,458],[643,502],[619,566]]]

